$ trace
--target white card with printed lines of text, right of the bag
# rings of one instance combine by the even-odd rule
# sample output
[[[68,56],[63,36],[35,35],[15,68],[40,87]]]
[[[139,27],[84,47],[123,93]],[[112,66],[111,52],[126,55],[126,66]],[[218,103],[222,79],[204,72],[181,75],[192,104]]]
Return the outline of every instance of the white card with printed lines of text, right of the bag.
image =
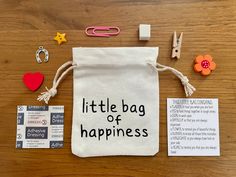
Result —
[[[168,156],[220,156],[218,99],[167,99]]]

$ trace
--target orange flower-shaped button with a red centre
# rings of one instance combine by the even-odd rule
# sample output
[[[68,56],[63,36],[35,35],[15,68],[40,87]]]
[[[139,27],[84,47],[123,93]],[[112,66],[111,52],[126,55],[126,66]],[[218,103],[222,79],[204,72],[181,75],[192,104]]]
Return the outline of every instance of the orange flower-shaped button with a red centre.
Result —
[[[211,71],[216,69],[216,64],[210,55],[199,55],[195,59],[194,70],[201,72],[203,76],[211,74]]]

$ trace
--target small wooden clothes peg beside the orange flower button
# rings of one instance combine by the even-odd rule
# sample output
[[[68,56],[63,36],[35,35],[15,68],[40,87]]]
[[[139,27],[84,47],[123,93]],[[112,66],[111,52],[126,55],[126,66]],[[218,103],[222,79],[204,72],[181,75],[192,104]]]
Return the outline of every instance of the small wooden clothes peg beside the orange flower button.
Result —
[[[172,58],[180,58],[181,53],[181,45],[183,40],[183,32],[180,34],[179,38],[177,39],[176,31],[173,35],[173,46],[172,46]]]

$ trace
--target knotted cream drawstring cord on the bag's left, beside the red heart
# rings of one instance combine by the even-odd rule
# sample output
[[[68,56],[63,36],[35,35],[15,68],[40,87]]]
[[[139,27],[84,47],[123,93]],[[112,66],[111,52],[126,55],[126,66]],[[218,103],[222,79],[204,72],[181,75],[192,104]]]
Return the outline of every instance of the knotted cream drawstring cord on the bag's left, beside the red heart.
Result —
[[[70,66],[70,67],[69,67]],[[54,97],[57,94],[57,87],[62,81],[62,79],[75,67],[77,67],[76,64],[73,64],[72,61],[68,61],[61,65],[60,68],[58,68],[56,75],[53,79],[53,85],[51,89],[46,88],[46,92],[42,92],[41,95],[38,96],[37,100],[38,101],[44,101],[46,104],[48,104],[48,101],[50,100],[51,97]],[[66,69],[67,68],[67,69]]]

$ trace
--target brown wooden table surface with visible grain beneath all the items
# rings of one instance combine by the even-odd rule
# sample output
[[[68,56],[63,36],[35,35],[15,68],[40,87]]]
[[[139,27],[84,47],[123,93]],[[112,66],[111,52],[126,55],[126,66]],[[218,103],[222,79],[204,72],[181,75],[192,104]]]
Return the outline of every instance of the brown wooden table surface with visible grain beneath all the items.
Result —
[[[152,25],[148,42],[138,40],[138,25]],[[90,38],[91,25],[121,28],[117,37]],[[0,1],[0,176],[236,176],[236,1],[235,0],[1,0]],[[181,59],[170,58],[173,31],[184,32]],[[57,45],[56,32],[68,42]],[[43,45],[48,63],[37,64],[35,51]],[[159,46],[159,62],[186,74],[197,88],[192,98],[219,98],[220,157],[168,157],[166,99],[184,97],[179,80],[160,74],[160,152],[154,157],[79,158],[71,153],[72,74],[59,87],[51,105],[65,105],[63,149],[15,149],[16,106],[36,101],[51,86],[56,69],[72,58],[72,47]],[[217,69],[208,77],[194,73],[196,55],[211,54]],[[25,72],[40,71],[43,86],[28,91]]]

